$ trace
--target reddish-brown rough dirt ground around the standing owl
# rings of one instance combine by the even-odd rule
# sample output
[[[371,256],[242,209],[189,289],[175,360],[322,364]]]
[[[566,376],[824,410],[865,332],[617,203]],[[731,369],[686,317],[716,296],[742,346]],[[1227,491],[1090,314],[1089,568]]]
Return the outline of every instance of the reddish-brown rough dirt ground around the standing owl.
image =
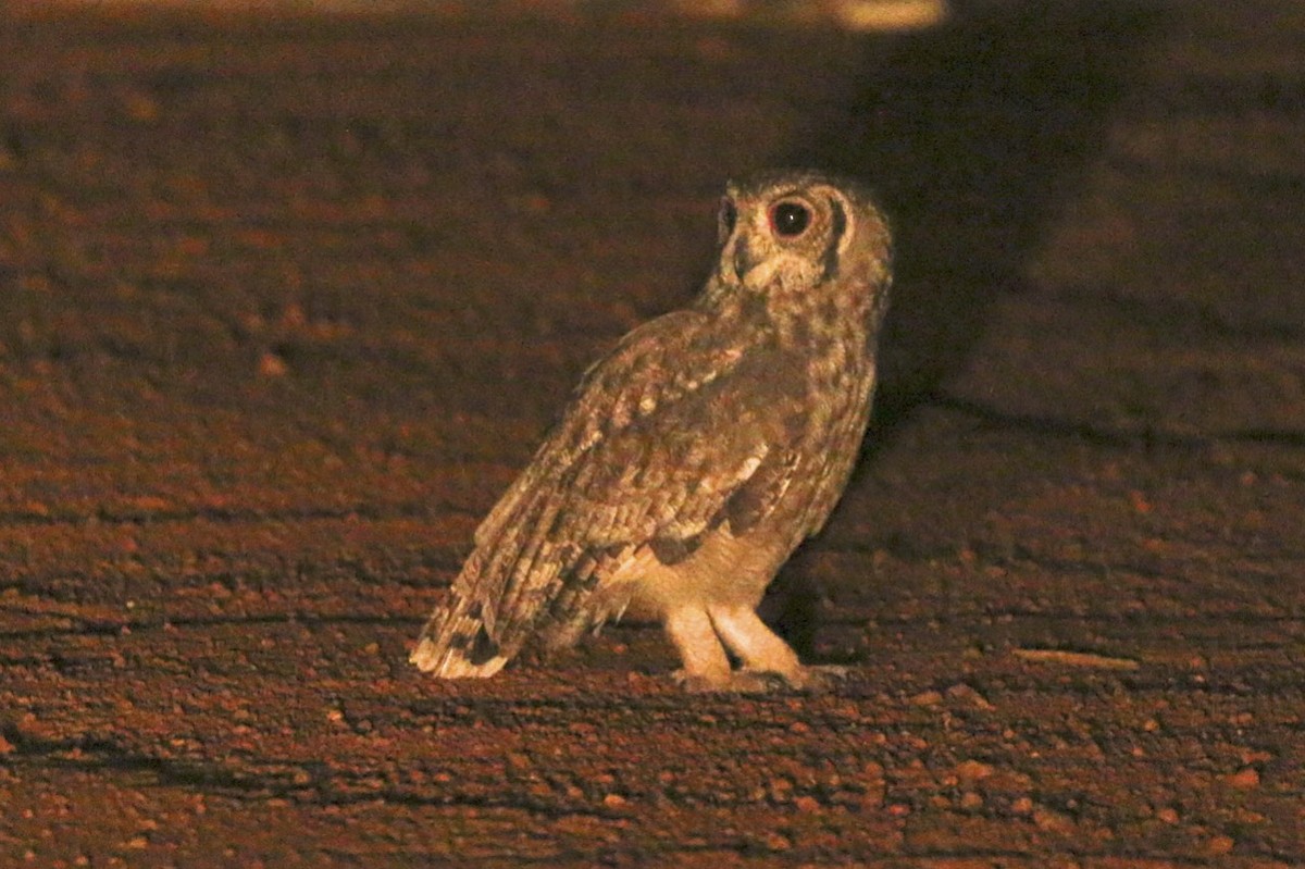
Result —
[[[1305,865],[1305,10],[915,35],[0,7],[0,865]],[[869,180],[874,428],[767,615],[407,662],[723,180]]]

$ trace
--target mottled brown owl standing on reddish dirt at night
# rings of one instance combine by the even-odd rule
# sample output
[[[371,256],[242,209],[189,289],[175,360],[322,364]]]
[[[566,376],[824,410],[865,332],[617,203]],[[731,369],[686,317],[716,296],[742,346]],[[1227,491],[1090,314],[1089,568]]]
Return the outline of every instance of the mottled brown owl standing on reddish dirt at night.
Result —
[[[825,525],[865,433],[887,223],[852,181],[778,171],[728,184],[718,231],[697,299],[586,372],[480,523],[412,651],[420,669],[492,676],[632,608],[662,622],[686,689],[830,678],[756,608]]]

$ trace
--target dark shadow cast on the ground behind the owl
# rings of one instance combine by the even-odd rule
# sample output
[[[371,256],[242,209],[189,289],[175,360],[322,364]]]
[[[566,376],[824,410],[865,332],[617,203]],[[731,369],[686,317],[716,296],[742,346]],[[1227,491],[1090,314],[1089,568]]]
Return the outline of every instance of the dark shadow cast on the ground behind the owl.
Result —
[[[1103,149],[1161,23],[1155,7],[1122,1],[980,3],[955,4],[934,30],[868,38],[857,93],[784,155],[864,181],[894,228],[861,472],[970,364],[993,304],[1023,290],[1027,260]],[[805,656],[826,598],[803,568],[810,551],[763,608]]]

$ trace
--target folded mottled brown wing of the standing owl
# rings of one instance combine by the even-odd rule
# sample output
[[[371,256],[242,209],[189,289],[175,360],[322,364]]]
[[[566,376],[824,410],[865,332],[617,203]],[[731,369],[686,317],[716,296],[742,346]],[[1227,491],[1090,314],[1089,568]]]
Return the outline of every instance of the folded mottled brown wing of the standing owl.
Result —
[[[673,562],[726,521],[744,534],[787,488],[805,382],[790,367],[803,363],[715,331],[681,311],[630,333],[478,528],[450,605],[500,656],[578,617],[628,560]],[[471,628],[437,613],[428,633],[462,634],[435,638],[448,648]]]

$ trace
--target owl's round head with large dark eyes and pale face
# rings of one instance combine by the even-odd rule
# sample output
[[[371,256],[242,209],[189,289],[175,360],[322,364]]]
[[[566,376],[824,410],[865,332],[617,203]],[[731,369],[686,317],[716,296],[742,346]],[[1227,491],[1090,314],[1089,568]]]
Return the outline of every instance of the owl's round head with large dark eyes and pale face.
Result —
[[[720,201],[716,278],[743,290],[800,292],[835,279],[887,275],[883,215],[855,181],[778,171],[731,181]]]

